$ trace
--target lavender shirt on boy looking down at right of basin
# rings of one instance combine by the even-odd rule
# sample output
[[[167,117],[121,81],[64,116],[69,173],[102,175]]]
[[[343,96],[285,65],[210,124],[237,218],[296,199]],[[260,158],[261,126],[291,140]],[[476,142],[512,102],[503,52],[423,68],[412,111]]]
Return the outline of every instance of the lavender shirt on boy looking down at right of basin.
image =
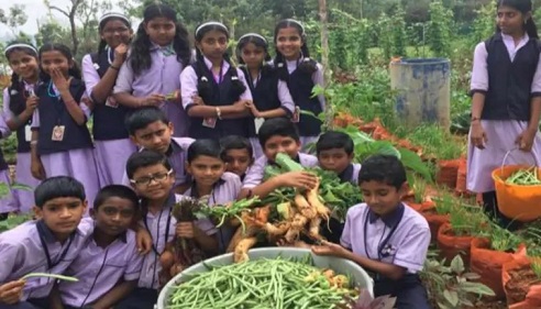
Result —
[[[430,229],[427,220],[407,205],[401,203],[382,219],[366,203],[360,203],[347,210],[340,242],[355,254],[416,274],[427,260]]]

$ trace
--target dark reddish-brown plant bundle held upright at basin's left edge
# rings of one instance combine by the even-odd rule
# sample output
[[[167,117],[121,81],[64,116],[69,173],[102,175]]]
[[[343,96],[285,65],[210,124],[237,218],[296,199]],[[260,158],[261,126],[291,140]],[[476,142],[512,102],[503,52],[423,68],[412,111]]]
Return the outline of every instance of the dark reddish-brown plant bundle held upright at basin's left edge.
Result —
[[[173,217],[180,222],[194,222],[197,218],[195,213],[201,209],[202,205],[191,198],[185,198],[173,207]],[[168,242],[165,251],[159,256],[162,272],[159,273],[161,284],[170,280],[175,275],[183,272],[186,267],[199,263],[205,258],[201,249],[194,240],[175,236]]]

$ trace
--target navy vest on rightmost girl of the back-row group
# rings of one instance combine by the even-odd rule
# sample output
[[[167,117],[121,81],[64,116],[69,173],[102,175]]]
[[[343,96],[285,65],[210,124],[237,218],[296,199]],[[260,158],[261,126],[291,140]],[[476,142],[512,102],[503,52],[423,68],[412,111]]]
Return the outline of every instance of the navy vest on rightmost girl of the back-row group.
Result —
[[[287,70],[287,68],[284,68]],[[319,103],[318,97],[312,98],[313,81],[310,74],[301,69],[295,69],[287,80],[287,87],[294,99],[294,102],[300,110],[310,111],[319,115],[323,110]],[[312,115],[300,114],[300,121],[297,123],[300,136],[318,136],[321,133],[322,122]]]

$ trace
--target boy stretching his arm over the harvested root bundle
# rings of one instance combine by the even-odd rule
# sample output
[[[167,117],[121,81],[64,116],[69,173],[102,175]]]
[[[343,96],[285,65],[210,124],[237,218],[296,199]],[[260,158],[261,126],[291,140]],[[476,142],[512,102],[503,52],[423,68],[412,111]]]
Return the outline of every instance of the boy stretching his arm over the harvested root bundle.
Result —
[[[278,153],[285,153],[305,167],[313,167],[318,158],[313,155],[300,153],[301,144],[299,133],[295,124],[287,118],[273,118],[265,120],[260,128],[260,143],[264,156],[257,158],[246,174],[243,181],[240,198],[257,196],[265,198],[268,194],[280,187],[295,187],[311,189],[318,179],[313,174],[306,172],[290,172],[275,176],[265,183],[265,167],[276,164],[274,159]]]

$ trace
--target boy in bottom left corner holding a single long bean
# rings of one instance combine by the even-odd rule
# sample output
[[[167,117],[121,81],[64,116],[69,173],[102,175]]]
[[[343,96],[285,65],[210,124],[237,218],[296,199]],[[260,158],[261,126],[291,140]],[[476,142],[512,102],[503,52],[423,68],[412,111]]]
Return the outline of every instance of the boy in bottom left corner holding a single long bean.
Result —
[[[34,191],[36,221],[0,234],[0,308],[49,308],[55,279],[30,273],[62,275],[79,255],[93,224],[82,216],[85,188],[68,176],[43,180]]]

